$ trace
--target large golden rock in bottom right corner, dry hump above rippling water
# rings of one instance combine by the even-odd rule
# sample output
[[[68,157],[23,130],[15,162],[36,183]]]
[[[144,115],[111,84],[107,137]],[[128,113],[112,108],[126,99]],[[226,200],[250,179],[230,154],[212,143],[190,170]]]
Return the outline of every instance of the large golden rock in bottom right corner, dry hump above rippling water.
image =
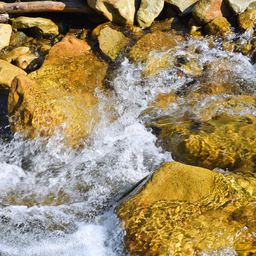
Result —
[[[250,180],[239,175],[169,162],[116,212],[130,256],[219,255],[225,248],[251,255],[255,196]]]

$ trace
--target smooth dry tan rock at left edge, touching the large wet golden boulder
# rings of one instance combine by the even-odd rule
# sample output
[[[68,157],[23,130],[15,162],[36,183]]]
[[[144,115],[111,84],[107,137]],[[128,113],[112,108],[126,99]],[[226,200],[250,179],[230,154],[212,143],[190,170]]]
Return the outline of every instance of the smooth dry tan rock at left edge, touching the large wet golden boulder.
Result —
[[[0,60],[0,87],[10,88],[12,80],[19,74],[26,76],[25,71],[6,61]]]

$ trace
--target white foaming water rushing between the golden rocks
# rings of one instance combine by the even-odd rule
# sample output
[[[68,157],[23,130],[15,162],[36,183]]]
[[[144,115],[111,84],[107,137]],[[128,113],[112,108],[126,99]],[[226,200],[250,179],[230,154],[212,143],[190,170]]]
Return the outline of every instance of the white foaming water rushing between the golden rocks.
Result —
[[[202,41],[200,62],[220,57],[235,59],[230,70],[247,81],[256,71],[247,57],[214,49]],[[186,54],[184,45],[175,54]],[[198,56],[197,56],[198,58]],[[156,137],[145,128],[140,114],[159,93],[186,85],[190,77],[178,77],[166,68],[150,79],[144,67],[125,59],[113,74],[114,94],[101,99],[102,122],[85,142],[84,149],[64,150],[56,132],[46,143],[15,135],[0,144],[0,253],[3,256],[121,255],[124,232],[114,214],[119,198],[162,163],[169,152],[155,145]],[[204,102],[202,102],[204,104]],[[106,106],[113,109],[109,122]],[[172,111],[183,113],[175,106]],[[198,109],[193,110],[199,114]],[[2,132],[4,135],[8,128]],[[214,253],[214,252],[213,252]],[[232,248],[215,254],[236,255]]]

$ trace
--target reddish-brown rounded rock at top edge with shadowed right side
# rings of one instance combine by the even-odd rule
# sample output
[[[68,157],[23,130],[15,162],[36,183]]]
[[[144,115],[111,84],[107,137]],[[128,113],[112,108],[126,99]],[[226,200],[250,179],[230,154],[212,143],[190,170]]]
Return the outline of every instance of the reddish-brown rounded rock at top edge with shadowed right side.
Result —
[[[193,8],[193,17],[199,23],[208,23],[217,17],[231,17],[224,0],[199,0]]]

